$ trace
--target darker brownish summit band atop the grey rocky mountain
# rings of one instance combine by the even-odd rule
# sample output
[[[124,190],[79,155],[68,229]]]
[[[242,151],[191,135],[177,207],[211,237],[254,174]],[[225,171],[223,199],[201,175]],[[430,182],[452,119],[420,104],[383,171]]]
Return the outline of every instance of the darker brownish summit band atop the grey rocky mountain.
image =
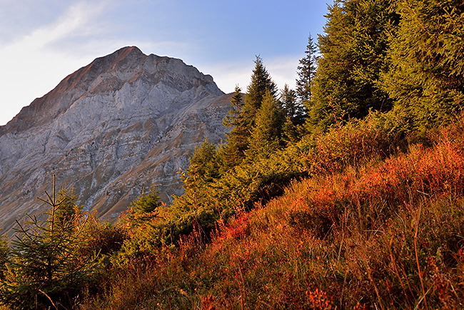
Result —
[[[144,79],[148,84],[161,83],[178,91],[208,85],[209,91],[223,94],[211,76],[201,74],[181,59],[154,54],[147,56],[136,46],[126,46],[66,76],[55,89],[32,101],[8,124],[0,126],[0,135],[46,124],[83,96],[116,91],[138,79]]]

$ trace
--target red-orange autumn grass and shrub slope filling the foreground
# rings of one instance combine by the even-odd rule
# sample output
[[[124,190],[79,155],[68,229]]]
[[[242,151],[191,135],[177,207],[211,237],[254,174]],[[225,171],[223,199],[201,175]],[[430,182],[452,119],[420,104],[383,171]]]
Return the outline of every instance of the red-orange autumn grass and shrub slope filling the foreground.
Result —
[[[81,309],[463,309],[463,133],[293,182],[210,244],[111,271]]]

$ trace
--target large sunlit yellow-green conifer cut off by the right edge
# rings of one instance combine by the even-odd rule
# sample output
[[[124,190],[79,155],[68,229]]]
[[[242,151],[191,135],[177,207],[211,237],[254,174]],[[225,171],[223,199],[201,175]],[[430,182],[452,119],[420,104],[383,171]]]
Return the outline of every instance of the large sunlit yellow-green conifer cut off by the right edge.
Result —
[[[401,16],[383,84],[416,126],[449,123],[464,99],[464,4],[398,1]]]

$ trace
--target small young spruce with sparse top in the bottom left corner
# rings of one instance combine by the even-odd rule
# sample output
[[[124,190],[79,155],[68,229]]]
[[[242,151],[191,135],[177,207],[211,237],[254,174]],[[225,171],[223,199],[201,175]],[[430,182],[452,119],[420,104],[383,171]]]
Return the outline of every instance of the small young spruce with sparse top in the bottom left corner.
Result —
[[[96,256],[81,256],[88,225],[67,191],[47,194],[44,223],[29,216],[19,224],[0,286],[0,303],[11,309],[38,309],[70,304],[82,286],[93,281]],[[74,207],[74,208],[72,208]],[[71,209],[72,208],[72,209]]]

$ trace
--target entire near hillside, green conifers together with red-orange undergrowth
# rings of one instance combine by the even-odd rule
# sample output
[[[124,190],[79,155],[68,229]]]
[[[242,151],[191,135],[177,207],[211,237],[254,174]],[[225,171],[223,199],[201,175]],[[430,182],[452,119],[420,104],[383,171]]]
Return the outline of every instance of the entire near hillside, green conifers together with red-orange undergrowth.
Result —
[[[171,206],[105,224],[53,183],[3,309],[464,309],[463,1],[336,0],[296,71],[256,56]]]

